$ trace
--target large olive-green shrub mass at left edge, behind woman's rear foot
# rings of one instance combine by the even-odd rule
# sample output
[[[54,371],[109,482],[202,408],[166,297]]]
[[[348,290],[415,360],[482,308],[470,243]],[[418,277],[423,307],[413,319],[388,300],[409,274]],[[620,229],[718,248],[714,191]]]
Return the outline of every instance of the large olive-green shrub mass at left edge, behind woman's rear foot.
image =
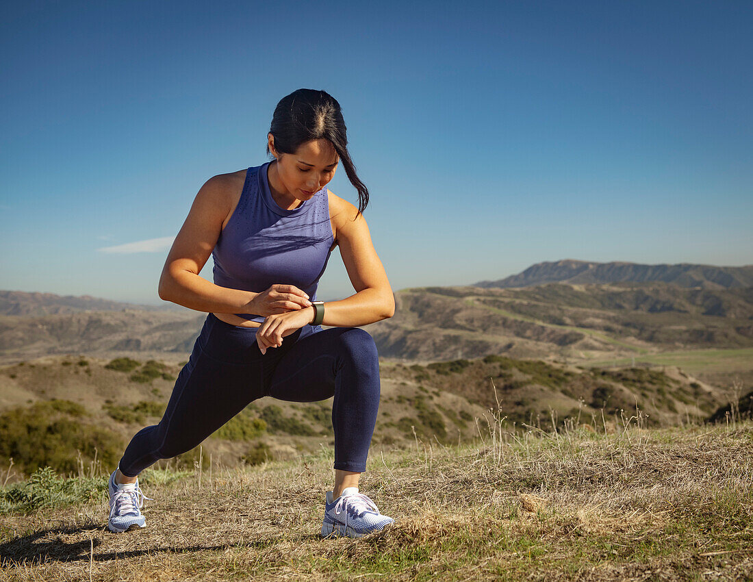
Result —
[[[123,452],[120,437],[107,428],[85,422],[80,404],[47,401],[15,408],[0,415],[0,460],[13,457],[20,471],[33,473],[50,466],[55,471],[78,471],[78,456],[87,466],[96,458],[114,465]]]

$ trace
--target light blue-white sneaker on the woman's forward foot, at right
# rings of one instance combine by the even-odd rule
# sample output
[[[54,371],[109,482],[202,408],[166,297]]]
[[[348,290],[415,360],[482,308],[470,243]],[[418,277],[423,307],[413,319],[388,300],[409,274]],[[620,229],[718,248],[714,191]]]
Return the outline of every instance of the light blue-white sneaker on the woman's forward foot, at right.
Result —
[[[357,487],[347,487],[337,499],[333,499],[332,492],[328,491],[322,538],[329,535],[360,538],[361,535],[381,532],[393,522],[392,517],[382,515],[373,501],[359,493]]]

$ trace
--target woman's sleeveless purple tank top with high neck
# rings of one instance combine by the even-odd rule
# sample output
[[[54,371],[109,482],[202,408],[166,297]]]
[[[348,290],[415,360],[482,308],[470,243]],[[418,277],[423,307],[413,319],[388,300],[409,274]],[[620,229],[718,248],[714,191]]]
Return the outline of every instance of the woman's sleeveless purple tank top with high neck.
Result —
[[[238,206],[212,251],[215,285],[261,293],[274,283],[284,283],[295,285],[314,301],[334,242],[327,188],[292,210],[282,209],[270,193],[269,165],[245,173]],[[263,315],[236,315],[264,321]]]

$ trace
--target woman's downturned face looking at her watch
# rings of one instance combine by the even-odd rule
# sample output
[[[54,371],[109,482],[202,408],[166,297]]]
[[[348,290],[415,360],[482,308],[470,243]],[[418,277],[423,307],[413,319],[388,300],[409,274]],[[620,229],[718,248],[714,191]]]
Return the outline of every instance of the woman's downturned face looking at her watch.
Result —
[[[294,154],[279,154],[270,133],[270,151],[277,163],[270,168],[270,188],[285,208],[309,200],[334,177],[339,157],[328,139],[314,139],[300,145]],[[300,201],[300,202],[298,202]]]

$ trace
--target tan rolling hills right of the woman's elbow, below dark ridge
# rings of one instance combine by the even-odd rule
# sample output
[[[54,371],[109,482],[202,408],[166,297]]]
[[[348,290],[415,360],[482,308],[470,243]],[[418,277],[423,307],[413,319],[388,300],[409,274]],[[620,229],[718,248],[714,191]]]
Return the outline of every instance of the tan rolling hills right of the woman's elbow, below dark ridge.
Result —
[[[429,287],[395,294],[395,317],[367,329],[387,358],[639,357],[753,347],[753,288],[662,282],[532,288]]]

